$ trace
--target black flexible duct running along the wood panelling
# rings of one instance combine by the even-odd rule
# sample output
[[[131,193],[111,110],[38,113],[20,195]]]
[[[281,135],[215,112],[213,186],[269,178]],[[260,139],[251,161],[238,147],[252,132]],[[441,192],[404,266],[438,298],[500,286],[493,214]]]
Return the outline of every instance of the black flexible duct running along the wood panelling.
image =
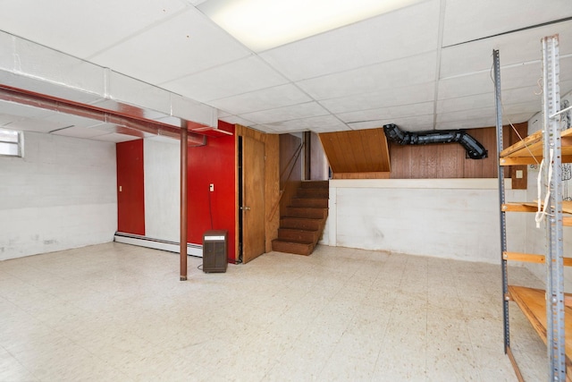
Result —
[[[462,130],[436,131],[436,132],[404,132],[397,124],[383,125],[383,132],[388,140],[400,145],[426,145],[428,143],[458,142],[467,151],[471,159],[484,159],[488,157],[486,149],[475,138]]]

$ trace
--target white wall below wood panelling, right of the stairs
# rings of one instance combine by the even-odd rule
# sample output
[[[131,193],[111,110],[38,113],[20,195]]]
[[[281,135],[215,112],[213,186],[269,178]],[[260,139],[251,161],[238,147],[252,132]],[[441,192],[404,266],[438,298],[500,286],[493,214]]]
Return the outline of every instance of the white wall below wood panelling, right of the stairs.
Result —
[[[500,264],[496,179],[331,181],[330,195],[324,244]],[[523,250],[525,223],[511,223]]]

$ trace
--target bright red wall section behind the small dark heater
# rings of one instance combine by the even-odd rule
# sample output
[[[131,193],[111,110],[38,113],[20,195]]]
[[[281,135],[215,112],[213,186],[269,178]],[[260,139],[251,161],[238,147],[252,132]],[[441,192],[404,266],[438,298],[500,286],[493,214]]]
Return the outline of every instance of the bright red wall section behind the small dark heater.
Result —
[[[219,121],[219,128],[234,133],[234,125]],[[189,148],[187,240],[202,244],[211,229],[228,230],[228,259],[235,262],[235,137],[208,137],[206,146]],[[214,191],[209,185],[214,184]],[[211,226],[212,219],[212,226]]]

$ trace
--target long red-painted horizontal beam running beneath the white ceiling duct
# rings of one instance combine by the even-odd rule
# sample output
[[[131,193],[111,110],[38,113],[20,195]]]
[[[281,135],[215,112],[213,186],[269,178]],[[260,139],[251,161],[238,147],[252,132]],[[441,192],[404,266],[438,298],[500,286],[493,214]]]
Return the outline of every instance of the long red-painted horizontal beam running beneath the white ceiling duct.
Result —
[[[0,100],[14,102],[21,105],[34,106],[46,110],[55,111],[69,115],[100,121],[102,123],[112,123],[119,129],[136,130],[148,132],[154,135],[161,135],[175,140],[181,138],[181,129],[171,124],[158,121],[148,121],[144,118],[136,118],[128,115],[112,113],[96,106],[80,105],[63,99],[46,98],[38,94],[32,94],[21,89],[13,89],[0,85]],[[93,129],[97,129],[94,127]],[[131,134],[132,135],[132,134]],[[188,133],[188,144],[191,146],[204,146],[206,136],[195,132]]]

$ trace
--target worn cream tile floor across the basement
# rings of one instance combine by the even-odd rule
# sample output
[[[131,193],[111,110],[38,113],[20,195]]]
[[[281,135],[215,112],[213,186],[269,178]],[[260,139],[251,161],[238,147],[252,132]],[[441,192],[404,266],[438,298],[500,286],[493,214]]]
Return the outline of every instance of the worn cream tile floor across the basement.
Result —
[[[0,262],[0,381],[516,380],[499,266],[325,246],[201,262],[187,282],[178,255],[119,243]],[[543,343],[511,321],[526,379],[546,380]]]

